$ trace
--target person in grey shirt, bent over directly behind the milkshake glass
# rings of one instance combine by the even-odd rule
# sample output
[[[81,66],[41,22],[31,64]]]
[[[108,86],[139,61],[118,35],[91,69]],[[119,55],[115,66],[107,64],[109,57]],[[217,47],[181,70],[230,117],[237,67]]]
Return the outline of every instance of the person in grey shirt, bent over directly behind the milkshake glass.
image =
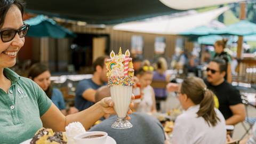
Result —
[[[102,86],[95,94],[95,100],[101,100],[110,95],[109,87]],[[89,131],[105,131],[117,143],[165,143],[165,134],[159,121],[147,114],[133,113],[129,120],[133,127],[130,129],[113,129],[111,125],[115,122],[116,116],[110,116],[100,124],[93,126]],[[167,142],[167,141],[166,141]]]

